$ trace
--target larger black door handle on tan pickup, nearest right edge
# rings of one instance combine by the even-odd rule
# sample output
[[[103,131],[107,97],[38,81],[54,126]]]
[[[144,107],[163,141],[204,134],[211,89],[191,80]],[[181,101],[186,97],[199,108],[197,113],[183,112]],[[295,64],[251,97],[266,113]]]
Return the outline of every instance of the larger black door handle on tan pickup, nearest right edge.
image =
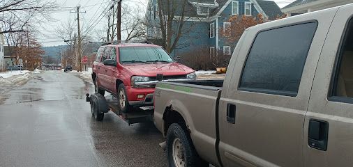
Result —
[[[308,131],[308,145],[317,150],[327,150],[329,137],[329,122],[322,120],[310,120]]]

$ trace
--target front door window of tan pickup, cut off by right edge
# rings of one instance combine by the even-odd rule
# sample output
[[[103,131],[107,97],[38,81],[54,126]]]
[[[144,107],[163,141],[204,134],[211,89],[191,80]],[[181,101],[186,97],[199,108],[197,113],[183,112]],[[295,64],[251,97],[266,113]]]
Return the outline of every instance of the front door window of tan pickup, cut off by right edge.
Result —
[[[347,24],[333,77],[331,97],[343,97],[353,102],[353,19]]]

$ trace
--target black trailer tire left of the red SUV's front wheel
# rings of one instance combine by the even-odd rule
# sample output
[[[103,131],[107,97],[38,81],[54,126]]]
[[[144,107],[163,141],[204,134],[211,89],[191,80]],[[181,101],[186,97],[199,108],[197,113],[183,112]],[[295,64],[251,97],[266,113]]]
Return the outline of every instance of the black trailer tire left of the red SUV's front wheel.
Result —
[[[103,95],[96,93],[91,95],[91,113],[94,119],[102,121],[104,113],[108,111],[107,101]]]

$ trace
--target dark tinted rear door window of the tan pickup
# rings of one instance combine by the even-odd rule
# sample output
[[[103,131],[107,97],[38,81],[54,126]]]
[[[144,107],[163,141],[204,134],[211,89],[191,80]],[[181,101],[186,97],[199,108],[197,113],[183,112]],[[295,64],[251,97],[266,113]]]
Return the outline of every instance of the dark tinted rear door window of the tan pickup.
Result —
[[[296,96],[316,28],[309,22],[258,33],[239,90]]]

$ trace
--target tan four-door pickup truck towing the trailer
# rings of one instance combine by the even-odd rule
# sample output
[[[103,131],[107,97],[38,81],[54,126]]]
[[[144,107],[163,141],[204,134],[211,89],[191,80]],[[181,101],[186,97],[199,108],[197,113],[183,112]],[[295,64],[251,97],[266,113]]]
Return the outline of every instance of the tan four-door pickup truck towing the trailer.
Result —
[[[352,166],[353,4],[250,27],[224,81],[155,101],[170,166]]]

